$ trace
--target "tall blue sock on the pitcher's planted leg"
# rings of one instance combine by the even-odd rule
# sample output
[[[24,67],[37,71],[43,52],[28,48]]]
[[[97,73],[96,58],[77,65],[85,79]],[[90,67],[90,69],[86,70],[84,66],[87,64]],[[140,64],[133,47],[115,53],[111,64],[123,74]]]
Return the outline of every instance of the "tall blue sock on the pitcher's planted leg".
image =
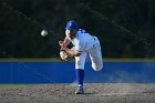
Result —
[[[79,86],[83,86],[83,81],[84,81],[84,70],[82,69],[75,69],[76,71],[76,80]]]

